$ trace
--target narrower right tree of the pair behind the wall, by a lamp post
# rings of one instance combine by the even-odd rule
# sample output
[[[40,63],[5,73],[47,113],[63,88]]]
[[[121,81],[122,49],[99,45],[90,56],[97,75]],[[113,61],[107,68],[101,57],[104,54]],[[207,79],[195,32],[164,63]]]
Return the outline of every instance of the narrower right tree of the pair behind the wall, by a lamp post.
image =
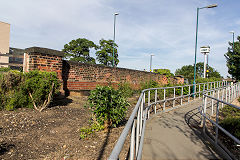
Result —
[[[113,40],[104,40],[99,41],[99,51],[96,52],[97,60],[99,63],[106,66],[111,66],[113,62],[113,47],[114,47],[114,66],[117,66],[119,63],[118,59],[118,50],[117,44]]]

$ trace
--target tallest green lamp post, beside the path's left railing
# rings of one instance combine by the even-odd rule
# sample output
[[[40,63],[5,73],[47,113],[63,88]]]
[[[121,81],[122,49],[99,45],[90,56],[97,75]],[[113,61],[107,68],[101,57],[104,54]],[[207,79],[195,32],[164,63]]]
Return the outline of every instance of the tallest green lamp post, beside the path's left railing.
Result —
[[[204,8],[214,8],[217,4],[208,5],[206,7],[197,8],[197,24],[196,24],[196,41],[195,41],[195,61],[194,61],[194,80],[193,80],[193,95],[195,94],[195,80],[196,80],[196,61],[197,61],[197,36],[198,36],[198,14],[200,9]]]

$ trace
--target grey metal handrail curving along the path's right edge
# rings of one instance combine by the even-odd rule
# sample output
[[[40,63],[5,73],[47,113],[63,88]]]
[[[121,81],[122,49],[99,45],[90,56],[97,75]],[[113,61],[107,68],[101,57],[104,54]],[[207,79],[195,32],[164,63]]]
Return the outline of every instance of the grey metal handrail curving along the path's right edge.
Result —
[[[207,92],[206,92],[207,93]],[[209,139],[209,141],[211,143],[213,143],[213,145],[215,147],[217,147],[219,150],[221,150],[221,153],[225,156],[226,159],[237,159],[232,153],[231,151],[224,146],[221,141],[219,140],[219,130],[221,130],[225,135],[227,135],[228,137],[230,137],[235,143],[237,143],[238,145],[240,145],[240,140],[238,138],[236,138],[234,135],[232,135],[231,133],[229,133],[226,129],[224,129],[223,127],[221,127],[219,125],[219,103],[221,103],[221,108],[223,108],[225,105],[228,105],[230,107],[236,108],[238,110],[240,110],[239,106],[233,105],[231,104],[231,102],[236,99],[237,97],[240,96],[240,83],[235,83],[233,85],[230,86],[226,86],[226,87],[222,87],[220,90],[218,90],[218,95],[217,98],[214,96],[210,96],[208,94],[203,94],[203,105],[200,106],[198,108],[199,112],[202,115],[202,125],[203,125],[203,134]],[[220,95],[221,93],[221,95]],[[208,105],[208,100],[207,99],[211,99],[211,103],[210,106]],[[221,98],[221,99],[220,99]],[[215,101],[215,103],[214,103]],[[214,105],[216,105],[216,109],[214,113]],[[209,106],[209,107],[208,107]],[[207,114],[207,109],[211,109],[211,113],[210,116],[216,115],[216,120],[212,120],[210,116],[208,116]],[[211,138],[207,133],[207,127],[206,127],[206,119],[209,120],[214,126],[215,126],[215,136],[214,139]],[[211,132],[209,132],[211,133]]]

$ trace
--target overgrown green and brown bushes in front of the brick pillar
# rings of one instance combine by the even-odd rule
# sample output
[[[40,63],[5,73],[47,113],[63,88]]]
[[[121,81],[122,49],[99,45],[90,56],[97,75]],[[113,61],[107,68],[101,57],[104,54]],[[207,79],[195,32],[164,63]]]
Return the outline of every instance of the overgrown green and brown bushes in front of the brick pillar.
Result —
[[[45,109],[57,94],[60,84],[56,73],[8,71],[0,73],[0,109]]]

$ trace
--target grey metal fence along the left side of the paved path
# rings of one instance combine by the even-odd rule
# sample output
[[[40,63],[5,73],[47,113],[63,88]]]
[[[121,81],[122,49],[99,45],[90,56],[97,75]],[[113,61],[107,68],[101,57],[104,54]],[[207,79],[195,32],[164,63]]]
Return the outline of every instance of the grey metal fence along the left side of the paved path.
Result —
[[[178,108],[184,102],[190,102],[197,98],[200,99],[206,91],[216,90],[227,85],[227,81],[218,81],[143,90],[108,159],[119,159],[125,140],[130,134],[129,157],[127,158],[140,160],[142,157],[146,120],[149,119],[151,114]],[[209,93],[213,94],[213,92]]]

